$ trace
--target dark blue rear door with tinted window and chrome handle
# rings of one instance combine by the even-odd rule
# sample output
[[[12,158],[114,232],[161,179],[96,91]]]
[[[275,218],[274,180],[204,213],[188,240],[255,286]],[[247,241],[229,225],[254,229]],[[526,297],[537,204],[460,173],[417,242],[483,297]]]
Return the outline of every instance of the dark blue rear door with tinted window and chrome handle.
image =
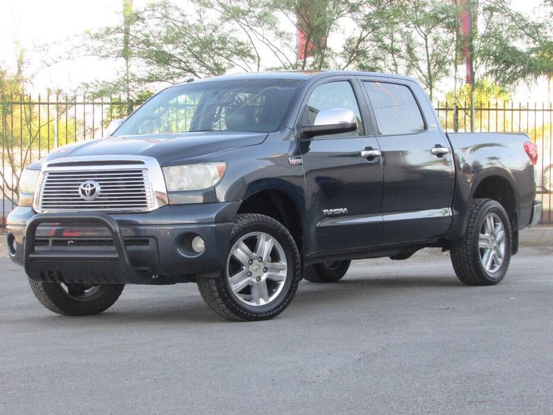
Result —
[[[453,154],[429,100],[409,80],[362,78],[382,151],[382,246],[438,239],[451,222]]]

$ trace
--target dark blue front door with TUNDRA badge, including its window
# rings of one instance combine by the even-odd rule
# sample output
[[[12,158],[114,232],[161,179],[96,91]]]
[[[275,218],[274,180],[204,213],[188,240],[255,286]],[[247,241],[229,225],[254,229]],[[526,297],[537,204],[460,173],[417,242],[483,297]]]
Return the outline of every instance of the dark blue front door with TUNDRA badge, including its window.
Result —
[[[362,155],[379,150],[369,133],[366,102],[358,100],[362,96],[357,80],[346,78],[315,84],[305,100],[304,125],[312,125],[323,109],[351,109],[357,116],[353,133],[298,137],[306,174],[308,255],[374,247],[382,235],[382,163],[378,156]]]

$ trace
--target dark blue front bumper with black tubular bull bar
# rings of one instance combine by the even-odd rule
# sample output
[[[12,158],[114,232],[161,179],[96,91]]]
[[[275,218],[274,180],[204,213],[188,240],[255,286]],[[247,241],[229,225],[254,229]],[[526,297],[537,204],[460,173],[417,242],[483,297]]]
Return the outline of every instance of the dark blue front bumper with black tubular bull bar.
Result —
[[[35,281],[189,282],[225,267],[237,209],[238,203],[205,203],[107,215],[17,208],[8,216],[8,247],[11,259]],[[196,235],[205,241],[201,254],[183,248]]]

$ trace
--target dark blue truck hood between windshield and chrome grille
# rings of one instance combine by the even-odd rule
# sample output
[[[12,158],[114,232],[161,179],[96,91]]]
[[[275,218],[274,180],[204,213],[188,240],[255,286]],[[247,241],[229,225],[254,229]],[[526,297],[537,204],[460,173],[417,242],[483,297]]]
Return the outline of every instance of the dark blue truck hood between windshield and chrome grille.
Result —
[[[99,138],[59,147],[48,155],[51,161],[79,156],[149,156],[160,165],[178,164],[189,158],[260,144],[267,133],[191,132],[140,134]]]

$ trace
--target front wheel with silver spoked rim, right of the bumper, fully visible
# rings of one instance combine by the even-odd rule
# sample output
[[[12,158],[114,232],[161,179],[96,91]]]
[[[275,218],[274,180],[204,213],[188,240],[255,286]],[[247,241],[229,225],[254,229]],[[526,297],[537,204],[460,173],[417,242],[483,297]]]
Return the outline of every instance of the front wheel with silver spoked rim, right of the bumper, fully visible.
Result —
[[[221,317],[269,320],[290,304],[300,279],[301,261],[290,232],[269,216],[238,214],[225,270],[216,278],[198,278],[198,289]]]

